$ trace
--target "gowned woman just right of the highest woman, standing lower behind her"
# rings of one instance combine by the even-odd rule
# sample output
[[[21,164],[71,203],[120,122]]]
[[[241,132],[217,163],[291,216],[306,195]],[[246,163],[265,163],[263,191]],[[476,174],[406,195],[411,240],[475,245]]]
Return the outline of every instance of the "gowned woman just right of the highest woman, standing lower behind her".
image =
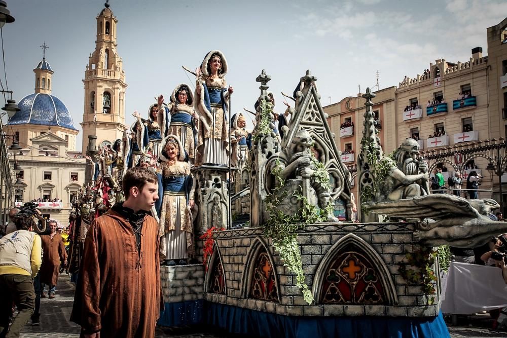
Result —
[[[251,133],[246,129],[243,114],[234,114],[231,119],[231,166],[243,168],[249,158],[251,147]]]

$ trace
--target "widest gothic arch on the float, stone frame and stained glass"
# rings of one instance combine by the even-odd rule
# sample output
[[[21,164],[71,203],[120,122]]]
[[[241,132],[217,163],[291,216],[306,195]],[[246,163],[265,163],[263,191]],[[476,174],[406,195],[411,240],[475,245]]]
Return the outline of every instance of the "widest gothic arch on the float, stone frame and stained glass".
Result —
[[[315,304],[398,303],[389,269],[363,239],[347,234],[322,258],[312,286]]]

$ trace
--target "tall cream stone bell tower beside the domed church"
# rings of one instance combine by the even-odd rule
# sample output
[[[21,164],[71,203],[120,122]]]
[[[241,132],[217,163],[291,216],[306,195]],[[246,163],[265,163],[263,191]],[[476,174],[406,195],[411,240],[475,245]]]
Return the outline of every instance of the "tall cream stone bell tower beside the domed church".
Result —
[[[95,51],[86,66],[85,106],[83,112],[83,154],[86,153],[88,135],[97,136],[97,145],[122,138],[125,130],[125,72],[122,58],[117,52],[116,33],[118,20],[109,8],[109,0],[95,18],[97,40]]]

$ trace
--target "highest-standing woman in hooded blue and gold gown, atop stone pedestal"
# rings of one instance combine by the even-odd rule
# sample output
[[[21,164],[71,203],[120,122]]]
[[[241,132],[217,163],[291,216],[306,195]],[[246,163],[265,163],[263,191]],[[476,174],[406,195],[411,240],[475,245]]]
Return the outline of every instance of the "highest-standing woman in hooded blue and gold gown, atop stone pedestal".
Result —
[[[227,87],[226,73],[227,61],[218,50],[206,54],[201,67],[196,69],[195,108],[200,119],[196,166],[229,164],[226,115],[228,100],[234,90]]]

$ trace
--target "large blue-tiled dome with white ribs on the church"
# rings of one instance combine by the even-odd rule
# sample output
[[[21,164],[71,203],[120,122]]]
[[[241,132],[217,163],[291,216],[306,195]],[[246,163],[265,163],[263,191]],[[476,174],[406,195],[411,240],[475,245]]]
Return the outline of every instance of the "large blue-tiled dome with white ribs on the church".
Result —
[[[56,96],[30,94],[19,101],[18,107],[21,110],[9,119],[8,125],[38,124],[77,130],[67,107]]]

